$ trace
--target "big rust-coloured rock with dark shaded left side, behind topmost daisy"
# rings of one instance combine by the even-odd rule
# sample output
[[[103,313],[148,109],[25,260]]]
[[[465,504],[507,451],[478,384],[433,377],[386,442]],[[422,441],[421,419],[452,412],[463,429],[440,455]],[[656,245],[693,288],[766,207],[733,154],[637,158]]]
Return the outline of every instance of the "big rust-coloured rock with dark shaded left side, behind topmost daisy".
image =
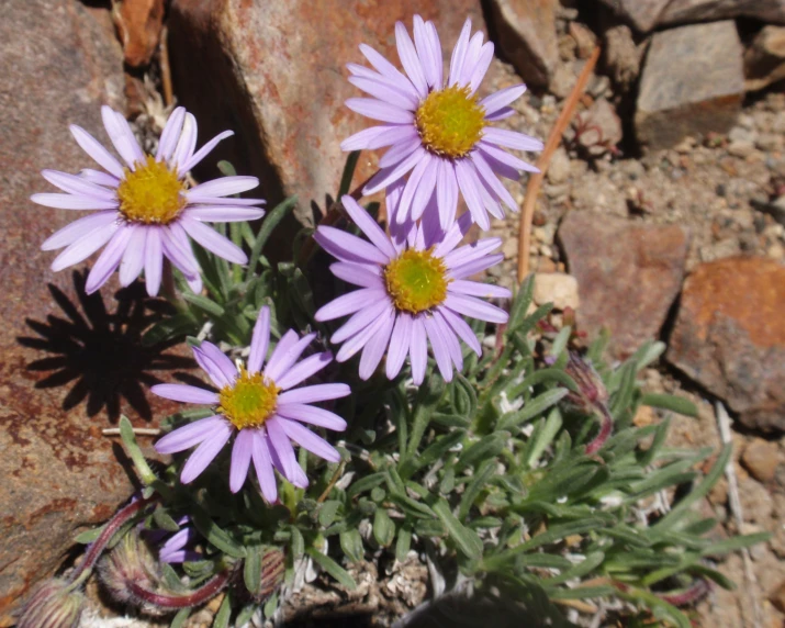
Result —
[[[223,142],[216,158],[257,175],[270,206],[298,194],[296,216],[310,224],[311,203],[324,209],[326,194],[338,191],[346,162],[340,142],[371,125],[344,106],[363,96],[346,80],[345,66],[366,64],[361,43],[397,64],[395,21],[411,32],[414,13],[435,21],[446,59],[467,18],[473,29],[483,26],[479,0],[427,7],[414,0],[173,0],[169,54],[178,98],[200,121],[200,134],[237,133],[240,139]],[[375,164],[363,154],[355,186]]]

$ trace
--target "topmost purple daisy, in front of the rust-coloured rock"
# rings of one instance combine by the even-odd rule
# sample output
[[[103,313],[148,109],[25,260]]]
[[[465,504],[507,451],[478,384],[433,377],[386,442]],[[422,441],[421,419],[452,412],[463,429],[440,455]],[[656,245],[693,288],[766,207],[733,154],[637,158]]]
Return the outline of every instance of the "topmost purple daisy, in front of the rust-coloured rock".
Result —
[[[352,135],[344,150],[390,146],[379,161],[381,170],[363,194],[372,194],[411,171],[394,216],[403,224],[418,220],[436,197],[441,227],[456,216],[459,191],[481,228],[491,226],[487,214],[504,216],[501,203],[518,206],[498,176],[518,180],[520,171],[537,168],[502,149],[541,150],[542,142],[523,133],[496,128],[492,122],[513,115],[509,103],[525,91],[516,85],[482,100],[475,96],[491,59],[493,44],[482,33],[471,36],[467,20],[452,51],[450,69],[442,76],[441,44],[431,22],[414,16],[414,43],[406,27],[395,24],[395,42],[405,75],[382,55],[362,44],[360,51],[374,70],[357,64],[347,67],[349,81],[372,98],[351,98],[352,111],[383,124]]]

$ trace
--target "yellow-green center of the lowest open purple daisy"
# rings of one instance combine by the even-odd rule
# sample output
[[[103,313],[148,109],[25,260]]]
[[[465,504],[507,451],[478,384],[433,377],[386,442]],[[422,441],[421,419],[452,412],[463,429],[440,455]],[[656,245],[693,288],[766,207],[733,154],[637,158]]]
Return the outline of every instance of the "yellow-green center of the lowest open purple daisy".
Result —
[[[218,412],[237,429],[260,427],[276,411],[279,392],[276,382],[240,367],[234,385],[225,385],[218,393]]]

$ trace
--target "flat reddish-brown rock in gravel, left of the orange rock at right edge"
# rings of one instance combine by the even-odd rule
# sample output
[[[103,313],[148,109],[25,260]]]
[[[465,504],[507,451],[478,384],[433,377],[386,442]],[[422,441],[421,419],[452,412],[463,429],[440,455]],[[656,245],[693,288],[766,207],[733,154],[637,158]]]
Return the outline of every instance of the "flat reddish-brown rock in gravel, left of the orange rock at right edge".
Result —
[[[687,229],[572,212],[559,239],[581,289],[582,330],[592,337],[607,327],[619,358],[659,336],[684,277]]]

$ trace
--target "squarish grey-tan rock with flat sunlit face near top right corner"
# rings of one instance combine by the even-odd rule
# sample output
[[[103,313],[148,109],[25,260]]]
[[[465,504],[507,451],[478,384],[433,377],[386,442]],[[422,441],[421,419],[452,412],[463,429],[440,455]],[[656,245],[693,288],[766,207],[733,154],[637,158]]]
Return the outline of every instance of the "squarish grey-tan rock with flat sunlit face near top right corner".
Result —
[[[638,141],[670,148],[685,135],[733,126],[744,94],[742,52],[732,21],[657,33],[640,81]]]

